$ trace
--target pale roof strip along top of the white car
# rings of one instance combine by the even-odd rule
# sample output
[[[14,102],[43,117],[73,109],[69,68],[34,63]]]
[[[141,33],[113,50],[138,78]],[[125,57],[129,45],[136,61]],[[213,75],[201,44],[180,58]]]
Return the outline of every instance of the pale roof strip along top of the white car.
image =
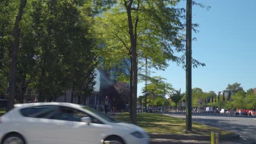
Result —
[[[28,103],[28,104],[15,104],[14,107],[19,108],[25,108],[25,107],[31,107],[31,106],[43,106],[43,105],[60,105],[60,106],[68,106],[68,107],[74,107],[79,108],[82,107],[82,105],[78,104],[72,104],[72,103],[59,103],[59,102],[50,102],[50,103]]]

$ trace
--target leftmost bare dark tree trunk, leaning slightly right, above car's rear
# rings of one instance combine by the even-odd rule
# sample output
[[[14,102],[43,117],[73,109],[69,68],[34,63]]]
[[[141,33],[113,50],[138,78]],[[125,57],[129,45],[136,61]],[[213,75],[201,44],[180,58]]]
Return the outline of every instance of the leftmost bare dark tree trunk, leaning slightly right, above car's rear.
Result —
[[[11,47],[11,61],[10,61],[10,86],[9,86],[9,100],[7,111],[13,109],[14,105],[14,98],[15,98],[15,88],[16,88],[16,71],[17,71],[17,61],[18,61],[18,50],[19,50],[19,37],[20,37],[20,30],[19,30],[19,22],[21,21],[23,9],[26,6],[26,0],[20,0],[20,8],[19,13],[16,16],[14,28],[13,28],[13,37],[14,41]]]

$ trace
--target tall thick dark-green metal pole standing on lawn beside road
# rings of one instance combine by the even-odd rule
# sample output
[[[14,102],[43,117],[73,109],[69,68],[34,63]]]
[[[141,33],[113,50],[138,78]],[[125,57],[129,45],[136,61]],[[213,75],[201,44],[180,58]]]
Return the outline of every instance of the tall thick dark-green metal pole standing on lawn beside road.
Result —
[[[191,99],[192,99],[192,0],[187,0],[187,28],[186,28],[186,131],[191,131],[192,128],[192,113],[191,113]]]

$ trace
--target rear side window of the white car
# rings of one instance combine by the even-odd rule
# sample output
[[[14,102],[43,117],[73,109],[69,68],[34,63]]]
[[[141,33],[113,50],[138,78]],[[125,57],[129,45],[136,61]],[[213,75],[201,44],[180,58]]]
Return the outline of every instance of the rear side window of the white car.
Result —
[[[45,106],[32,106],[21,109],[21,115],[25,117],[33,118],[49,118],[57,110],[57,106],[45,105]]]

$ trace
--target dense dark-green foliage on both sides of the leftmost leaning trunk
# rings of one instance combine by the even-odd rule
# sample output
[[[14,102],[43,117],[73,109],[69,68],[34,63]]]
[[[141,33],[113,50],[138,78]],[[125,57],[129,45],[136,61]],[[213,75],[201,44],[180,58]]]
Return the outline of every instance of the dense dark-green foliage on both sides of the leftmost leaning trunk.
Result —
[[[55,100],[66,89],[90,95],[98,63],[92,29],[92,1],[27,1],[20,22],[16,93],[27,87],[39,100]],[[19,1],[0,2],[0,91],[8,86],[9,47]],[[3,80],[3,81],[2,81]],[[85,99],[85,98],[84,98]]]

